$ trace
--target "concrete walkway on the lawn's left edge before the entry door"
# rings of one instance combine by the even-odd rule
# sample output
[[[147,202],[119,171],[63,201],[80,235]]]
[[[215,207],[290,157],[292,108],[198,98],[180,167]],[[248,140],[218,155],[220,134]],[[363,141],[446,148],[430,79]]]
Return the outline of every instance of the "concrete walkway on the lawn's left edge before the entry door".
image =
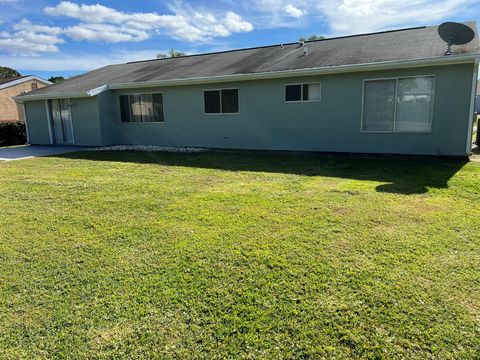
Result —
[[[89,149],[83,146],[41,146],[41,145],[22,145],[0,148],[0,161],[12,161],[31,159],[47,155],[64,154],[67,152],[83,151]]]

